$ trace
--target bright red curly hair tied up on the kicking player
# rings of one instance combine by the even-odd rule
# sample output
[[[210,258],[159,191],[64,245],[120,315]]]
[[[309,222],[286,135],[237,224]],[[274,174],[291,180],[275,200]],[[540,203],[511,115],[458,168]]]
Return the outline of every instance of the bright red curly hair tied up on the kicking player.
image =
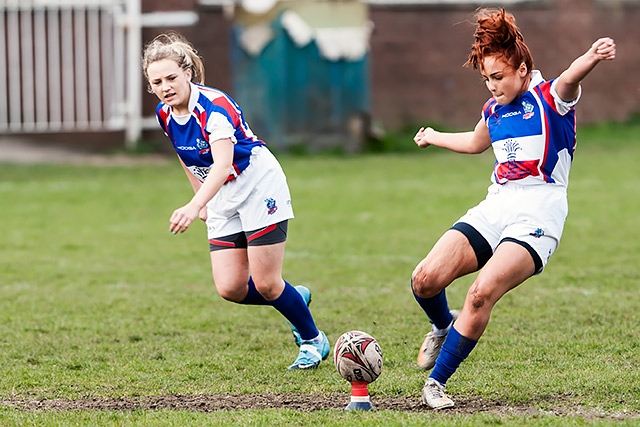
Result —
[[[524,63],[527,71],[531,72],[533,57],[516,26],[516,18],[503,8],[479,9],[476,16],[474,42],[464,66],[472,66],[474,70],[478,70],[482,68],[482,61],[486,56],[496,56],[514,70]]]

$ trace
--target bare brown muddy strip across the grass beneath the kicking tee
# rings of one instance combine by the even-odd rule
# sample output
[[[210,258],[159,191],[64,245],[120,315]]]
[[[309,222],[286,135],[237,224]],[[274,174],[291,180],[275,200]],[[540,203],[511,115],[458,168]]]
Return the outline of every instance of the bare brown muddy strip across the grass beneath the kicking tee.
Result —
[[[375,397],[371,402],[376,410],[400,412],[431,412],[418,398]],[[0,405],[22,411],[133,411],[133,410],[181,410],[213,412],[221,410],[293,409],[304,412],[318,410],[344,410],[348,395],[278,395],[278,394],[214,394],[167,395],[133,398],[90,399],[3,399]],[[458,398],[456,406],[441,411],[447,414],[495,414],[495,415],[555,415],[585,419],[640,419],[640,412],[603,413],[563,407],[556,400],[552,409],[542,410],[530,406],[504,405],[498,401],[479,398]]]

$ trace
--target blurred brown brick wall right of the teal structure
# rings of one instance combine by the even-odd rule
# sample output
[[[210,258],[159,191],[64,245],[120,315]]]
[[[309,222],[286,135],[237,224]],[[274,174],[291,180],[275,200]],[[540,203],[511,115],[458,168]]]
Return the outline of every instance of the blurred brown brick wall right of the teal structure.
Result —
[[[373,6],[372,113],[389,128],[436,123],[471,129],[488,98],[477,71],[463,68],[475,8]],[[601,36],[613,37],[616,60],[600,64],[583,84],[580,123],[623,121],[640,112],[640,2],[559,0],[508,8],[532,51],[535,67],[556,77]]]

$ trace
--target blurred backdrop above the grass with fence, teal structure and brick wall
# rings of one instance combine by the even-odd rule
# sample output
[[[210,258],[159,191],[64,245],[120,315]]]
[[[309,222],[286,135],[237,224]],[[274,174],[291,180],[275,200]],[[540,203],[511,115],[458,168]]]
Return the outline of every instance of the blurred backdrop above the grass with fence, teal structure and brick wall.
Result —
[[[637,117],[640,0],[0,0],[0,142],[170,150],[140,65],[169,30],[276,151],[362,152],[424,124],[468,130],[489,96],[462,67],[481,6],[516,16],[547,79],[613,37],[617,58],[585,81],[578,120]]]

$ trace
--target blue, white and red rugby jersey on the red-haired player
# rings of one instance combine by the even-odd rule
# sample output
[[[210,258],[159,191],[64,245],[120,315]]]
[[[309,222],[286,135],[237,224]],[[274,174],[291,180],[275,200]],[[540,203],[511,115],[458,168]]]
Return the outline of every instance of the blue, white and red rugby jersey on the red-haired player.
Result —
[[[555,184],[567,187],[576,147],[574,105],[555,93],[554,80],[534,70],[527,92],[507,105],[489,99],[482,108],[496,163],[496,184]]]

